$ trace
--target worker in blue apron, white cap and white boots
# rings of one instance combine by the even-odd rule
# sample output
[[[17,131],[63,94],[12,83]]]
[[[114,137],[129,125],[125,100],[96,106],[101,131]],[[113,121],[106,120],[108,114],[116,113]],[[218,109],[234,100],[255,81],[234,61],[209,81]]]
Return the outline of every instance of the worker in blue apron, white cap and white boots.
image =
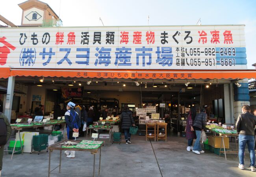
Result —
[[[78,117],[78,113],[74,111],[75,103],[71,101],[67,105],[67,112],[65,113],[65,121],[67,124],[67,137],[69,140],[73,140],[73,132],[78,132],[81,126],[81,120]],[[70,153],[70,154],[69,154]],[[65,151],[68,158],[75,158],[75,151]]]

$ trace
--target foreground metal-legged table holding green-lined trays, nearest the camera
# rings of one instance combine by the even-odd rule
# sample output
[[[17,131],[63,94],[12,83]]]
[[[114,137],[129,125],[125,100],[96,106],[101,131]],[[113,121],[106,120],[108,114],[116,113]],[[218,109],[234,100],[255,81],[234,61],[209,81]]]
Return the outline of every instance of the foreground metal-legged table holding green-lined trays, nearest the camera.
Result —
[[[89,175],[78,175],[78,174],[67,174],[67,173],[61,173],[61,154],[62,151],[66,151],[67,148],[62,147],[63,143],[67,142],[67,141],[71,141],[71,142],[75,142],[77,144],[79,144],[81,141],[75,141],[75,140],[63,140],[61,142],[57,142],[55,144],[53,144],[52,146],[49,146],[49,166],[48,166],[48,177],[50,177],[50,174],[64,174],[64,175],[77,175],[77,176],[89,176]],[[93,175],[90,177],[95,177],[95,155],[97,153],[99,153],[100,157],[99,157],[99,168],[98,168],[98,176],[100,176],[100,163],[101,163],[101,147],[104,146],[104,143],[100,144],[98,146],[98,148],[96,149],[82,149],[82,148],[69,148],[69,151],[83,151],[83,152],[90,152],[93,155]],[[51,170],[51,153],[54,150],[59,150],[59,165],[54,168],[53,170]],[[79,157],[76,157],[79,158]],[[87,159],[88,160],[88,159]],[[54,170],[56,170],[57,168],[59,168],[59,172],[53,172]],[[70,168],[76,168],[76,165],[74,164],[74,166],[72,167],[72,164],[70,166]]]

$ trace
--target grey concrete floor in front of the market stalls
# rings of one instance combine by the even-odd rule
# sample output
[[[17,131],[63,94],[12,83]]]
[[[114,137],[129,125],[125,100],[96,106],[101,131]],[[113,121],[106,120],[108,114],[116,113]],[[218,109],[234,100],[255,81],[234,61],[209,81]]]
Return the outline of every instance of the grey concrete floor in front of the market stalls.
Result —
[[[80,140],[83,138],[79,138]],[[124,140],[124,138],[122,137]],[[245,170],[237,168],[235,155],[219,157],[210,151],[197,155],[186,151],[186,138],[169,136],[167,142],[145,141],[145,136],[132,136],[132,144],[116,144],[102,147],[101,177],[255,177],[249,171],[249,156],[245,157]],[[154,148],[154,151],[152,149]],[[156,157],[154,155],[156,154]],[[49,153],[24,153],[23,155],[4,155],[2,177],[47,177]],[[59,151],[52,153],[51,167],[58,166]],[[62,154],[62,173],[83,175],[93,174],[93,155],[89,152],[76,152],[75,159],[67,159]],[[160,168],[158,167],[159,163]],[[160,172],[161,169],[161,172]],[[96,174],[98,155],[96,155]],[[54,172],[58,172],[55,170]],[[162,173],[162,175],[161,175]],[[75,175],[77,176],[77,175]],[[97,176],[97,175],[96,175]],[[51,174],[51,177],[70,177],[70,175]]]

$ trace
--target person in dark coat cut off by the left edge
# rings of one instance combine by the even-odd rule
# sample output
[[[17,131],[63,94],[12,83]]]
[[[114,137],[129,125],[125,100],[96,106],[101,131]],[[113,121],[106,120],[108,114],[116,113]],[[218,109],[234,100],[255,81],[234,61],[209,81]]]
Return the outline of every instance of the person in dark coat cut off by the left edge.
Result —
[[[4,156],[4,145],[7,143],[11,135],[11,125],[7,117],[0,112],[0,176],[3,166],[3,156]],[[1,137],[3,139],[1,139]]]

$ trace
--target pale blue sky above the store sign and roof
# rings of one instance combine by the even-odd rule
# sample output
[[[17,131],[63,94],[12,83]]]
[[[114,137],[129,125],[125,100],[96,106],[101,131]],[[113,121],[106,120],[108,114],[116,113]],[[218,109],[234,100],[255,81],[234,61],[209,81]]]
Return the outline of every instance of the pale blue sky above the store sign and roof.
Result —
[[[256,0],[42,0],[60,15],[63,26],[245,24],[247,66],[256,63]],[[20,25],[22,0],[4,3],[0,14]],[[11,11],[9,10],[11,9]],[[0,22],[0,24],[3,24]]]

